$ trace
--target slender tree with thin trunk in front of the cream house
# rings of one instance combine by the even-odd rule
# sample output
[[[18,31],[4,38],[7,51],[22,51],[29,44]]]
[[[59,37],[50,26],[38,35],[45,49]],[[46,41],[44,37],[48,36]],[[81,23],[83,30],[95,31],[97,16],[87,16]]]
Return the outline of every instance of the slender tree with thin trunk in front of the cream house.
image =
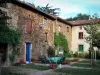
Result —
[[[90,51],[91,51],[91,65],[94,64],[94,49],[93,47],[100,47],[99,44],[99,36],[100,36],[100,32],[99,32],[99,24],[96,24],[96,15],[93,15],[95,19],[90,20],[90,24],[89,25],[85,25],[84,29],[86,30],[86,32],[89,34],[89,36],[86,36],[86,42],[90,44]]]

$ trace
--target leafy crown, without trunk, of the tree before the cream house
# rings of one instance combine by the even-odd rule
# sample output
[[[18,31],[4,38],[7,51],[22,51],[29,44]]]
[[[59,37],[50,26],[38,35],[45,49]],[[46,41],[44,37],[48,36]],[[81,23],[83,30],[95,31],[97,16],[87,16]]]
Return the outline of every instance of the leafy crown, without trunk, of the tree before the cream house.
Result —
[[[92,46],[96,46],[100,48],[99,40],[100,40],[100,25],[94,24],[93,22],[90,25],[84,26],[84,29],[89,34],[89,36],[85,37],[87,43],[92,43]]]

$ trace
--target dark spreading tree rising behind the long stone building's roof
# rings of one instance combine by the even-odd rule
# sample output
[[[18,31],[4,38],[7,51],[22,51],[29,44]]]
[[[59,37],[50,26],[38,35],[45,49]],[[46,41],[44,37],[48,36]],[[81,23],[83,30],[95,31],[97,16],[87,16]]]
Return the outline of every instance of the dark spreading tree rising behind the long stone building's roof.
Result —
[[[47,14],[53,14],[54,16],[58,16],[60,11],[60,8],[52,8],[52,6],[49,6],[49,4],[47,4],[45,7],[37,6],[37,9]]]

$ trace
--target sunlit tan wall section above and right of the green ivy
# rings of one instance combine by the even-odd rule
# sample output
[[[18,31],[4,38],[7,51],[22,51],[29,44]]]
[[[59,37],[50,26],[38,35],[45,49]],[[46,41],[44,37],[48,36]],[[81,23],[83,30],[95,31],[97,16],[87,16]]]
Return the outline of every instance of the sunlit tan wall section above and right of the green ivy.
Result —
[[[60,28],[59,28],[60,27]],[[68,47],[69,50],[71,50],[71,42],[72,42],[72,30],[71,26],[67,25],[65,23],[62,23],[60,21],[56,21],[54,25],[54,31],[59,33],[63,33],[66,36],[66,39],[68,41]]]

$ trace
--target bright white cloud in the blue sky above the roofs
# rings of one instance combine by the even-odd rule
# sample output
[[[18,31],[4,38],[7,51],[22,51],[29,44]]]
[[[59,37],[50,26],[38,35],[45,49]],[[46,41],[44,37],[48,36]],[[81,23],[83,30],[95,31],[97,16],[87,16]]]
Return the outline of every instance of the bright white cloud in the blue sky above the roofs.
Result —
[[[71,14],[71,13],[86,13],[87,10],[81,5],[70,3],[69,0],[35,0],[35,5],[46,6],[48,4],[53,6],[53,8],[60,8],[61,13],[60,16],[64,16],[64,14]]]

